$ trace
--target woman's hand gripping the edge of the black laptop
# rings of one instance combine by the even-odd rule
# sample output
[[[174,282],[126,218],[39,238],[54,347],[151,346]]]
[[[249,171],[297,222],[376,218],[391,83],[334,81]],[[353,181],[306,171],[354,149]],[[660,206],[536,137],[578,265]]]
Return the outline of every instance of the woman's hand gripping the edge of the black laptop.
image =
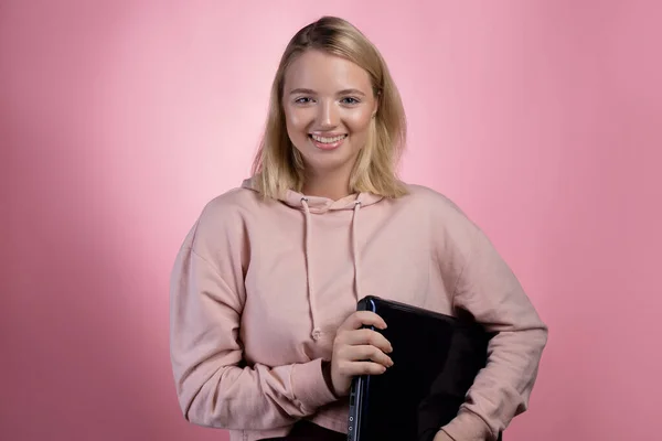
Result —
[[[356,375],[380,375],[393,366],[386,354],[393,352],[391,343],[378,332],[362,329],[386,327],[382,318],[371,311],[356,311],[338,329],[331,356],[331,383],[337,396],[350,392],[352,378]]]

